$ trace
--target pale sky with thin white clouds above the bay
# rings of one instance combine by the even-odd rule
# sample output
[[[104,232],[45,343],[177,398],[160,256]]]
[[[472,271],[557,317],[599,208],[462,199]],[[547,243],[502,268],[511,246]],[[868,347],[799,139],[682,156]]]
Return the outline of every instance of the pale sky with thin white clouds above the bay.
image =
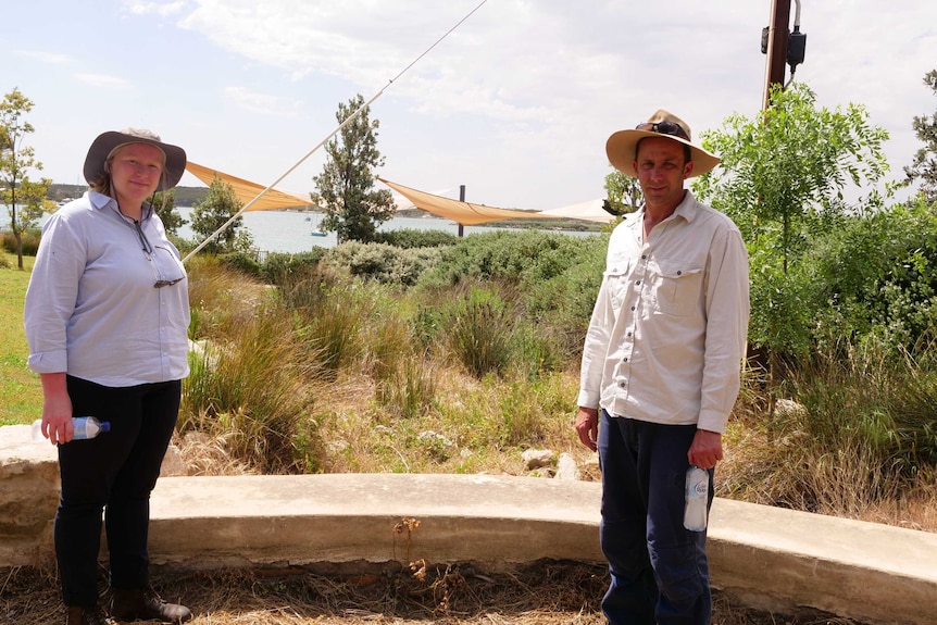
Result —
[[[142,127],[199,164],[263,186],[283,177],[277,188],[305,196],[338,104],[360,93],[376,98],[380,176],[549,210],[602,197],[605,140],[658,109],[694,137],[753,118],[771,5],[24,0],[4,3],[0,96],[18,88],[34,102],[25,143],[45,167],[33,178],[84,185],[96,136]],[[937,110],[923,83],[937,68],[937,2],[802,0],[800,30],[795,80],[821,105],[864,105],[890,135],[889,178],[902,178],[922,147],[913,117]],[[190,174],[180,184],[203,186]]]

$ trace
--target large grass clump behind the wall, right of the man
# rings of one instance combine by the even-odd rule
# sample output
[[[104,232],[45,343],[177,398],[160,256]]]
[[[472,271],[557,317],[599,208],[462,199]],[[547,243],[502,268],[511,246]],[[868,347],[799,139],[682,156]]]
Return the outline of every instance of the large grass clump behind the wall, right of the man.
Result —
[[[730,493],[861,517],[933,477],[934,374],[872,342],[836,352],[791,371],[791,399],[767,418],[733,429]]]

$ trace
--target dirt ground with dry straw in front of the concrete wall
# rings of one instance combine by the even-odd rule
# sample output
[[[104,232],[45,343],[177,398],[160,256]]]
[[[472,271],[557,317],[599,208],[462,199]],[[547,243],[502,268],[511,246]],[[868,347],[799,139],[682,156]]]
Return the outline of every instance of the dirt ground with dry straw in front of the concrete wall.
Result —
[[[538,563],[510,573],[473,565],[365,575],[303,568],[170,574],[153,586],[192,609],[192,625],[600,625],[604,566]],[[104,572],[100,587],[107,587]],[[733,605],[716,592],[713,625],[863,625],[822,613],[770,614]],[[0,623],[61,625],[54,573],[0,570]]]

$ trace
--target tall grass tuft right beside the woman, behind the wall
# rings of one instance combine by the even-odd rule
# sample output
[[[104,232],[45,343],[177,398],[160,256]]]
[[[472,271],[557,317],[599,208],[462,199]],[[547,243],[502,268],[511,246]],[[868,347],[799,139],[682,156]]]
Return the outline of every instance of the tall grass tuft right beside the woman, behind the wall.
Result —
[[[189,270],[193,335],[179,433],[197,430],[264,473],[303,472],[318,442],[303,428],[320,365],[264,285],[207,258]],[[297,446],[295,437],[303,438]]]

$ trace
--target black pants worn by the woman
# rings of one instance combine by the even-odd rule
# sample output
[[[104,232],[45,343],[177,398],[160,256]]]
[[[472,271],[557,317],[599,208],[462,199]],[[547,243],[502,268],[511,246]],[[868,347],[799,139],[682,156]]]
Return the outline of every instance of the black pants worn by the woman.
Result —
[[[68,376],[67,388],[75,416],[111,423],[97,438],[59,446],[54,538],[62,600],[95,605],[102,512],[111,586],[149,584],[150,492],[178,418],[182,382],[111,388]]]

